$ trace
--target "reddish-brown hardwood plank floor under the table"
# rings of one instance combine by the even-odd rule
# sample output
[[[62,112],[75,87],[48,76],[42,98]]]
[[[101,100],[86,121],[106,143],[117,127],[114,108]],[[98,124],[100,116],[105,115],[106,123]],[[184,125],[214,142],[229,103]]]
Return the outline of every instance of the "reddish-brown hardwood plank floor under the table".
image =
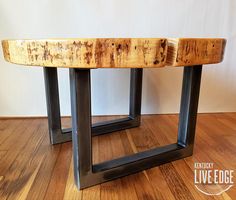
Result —
[[[96,117],[93,121],[111,117]],[[70,119],[63,118],[65,127]],[[145,115],[138,128],[93,138],[98,163],[177,138],[178,115]],[[194,162],[236,169],[236,113],[199,114],[194,155],[78,191],[73,180],[71,142],[50,145],[47,119],[0,120],[0,200],[4,199],[236,199],[236,187],[207,196],[194,186]],[[236,176],[234,174],[234,176]]]

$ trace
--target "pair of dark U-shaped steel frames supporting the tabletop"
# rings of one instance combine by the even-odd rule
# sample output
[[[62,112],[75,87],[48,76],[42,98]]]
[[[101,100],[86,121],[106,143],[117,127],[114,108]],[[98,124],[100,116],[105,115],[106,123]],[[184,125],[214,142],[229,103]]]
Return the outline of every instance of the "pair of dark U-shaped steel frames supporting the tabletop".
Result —
[[[52,144],[71,140],[61,128],[56,68],[45,68],[49,133]],[[70,69],[75,182],[79,189],[192,155],[202,66],[184,68],[178,141],[99,164],[92,163],[92,136],[140,125],[142,69],[131,69],[130,111],[124,119],[91,124],[90,69]]]

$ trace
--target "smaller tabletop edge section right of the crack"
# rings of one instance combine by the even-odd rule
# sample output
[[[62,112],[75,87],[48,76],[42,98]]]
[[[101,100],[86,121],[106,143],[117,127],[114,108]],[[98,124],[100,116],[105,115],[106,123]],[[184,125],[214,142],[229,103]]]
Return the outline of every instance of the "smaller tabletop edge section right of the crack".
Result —
[[[225,39],[168,39],[167,65],[191,66],[220,63],[224,57]]]

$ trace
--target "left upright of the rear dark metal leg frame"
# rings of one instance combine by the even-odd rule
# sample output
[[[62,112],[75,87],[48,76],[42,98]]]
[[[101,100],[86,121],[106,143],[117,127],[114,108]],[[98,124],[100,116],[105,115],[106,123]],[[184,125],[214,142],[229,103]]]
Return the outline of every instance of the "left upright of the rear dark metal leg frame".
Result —
[[[48,128],[51,144],[71,140],[71,134],[61,129],[57,68],[44,67],[44,81],[47,100]]]

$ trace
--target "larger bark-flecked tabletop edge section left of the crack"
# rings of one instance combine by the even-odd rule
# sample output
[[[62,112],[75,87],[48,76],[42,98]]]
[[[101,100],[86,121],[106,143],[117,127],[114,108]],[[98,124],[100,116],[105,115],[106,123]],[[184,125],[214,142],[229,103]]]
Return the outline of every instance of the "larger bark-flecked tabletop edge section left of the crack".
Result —
[[[162,67],[164,38],[3,40],[7,61],[32,66],[76,68]]]

